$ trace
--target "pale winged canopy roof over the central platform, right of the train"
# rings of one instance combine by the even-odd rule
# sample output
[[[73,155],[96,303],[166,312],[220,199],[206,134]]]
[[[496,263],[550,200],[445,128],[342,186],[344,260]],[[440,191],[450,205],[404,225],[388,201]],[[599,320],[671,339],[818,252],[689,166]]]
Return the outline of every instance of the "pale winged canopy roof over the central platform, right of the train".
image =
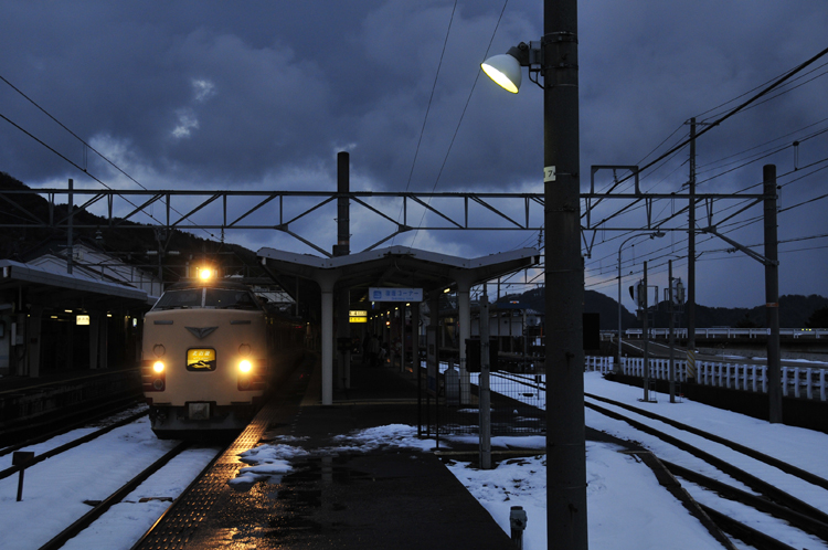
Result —
[[[261,248],[263,265],[275,277],[299,277],[321,285],[349,288],[354,302],[370,287],[422,288],[424,294],[476,285],[535,265],[537,248],[520,248],[465,258],[436,252],[391,246],[333,257],[320,257],[275,248]],[[288,288],[289,292],[289,288]]]

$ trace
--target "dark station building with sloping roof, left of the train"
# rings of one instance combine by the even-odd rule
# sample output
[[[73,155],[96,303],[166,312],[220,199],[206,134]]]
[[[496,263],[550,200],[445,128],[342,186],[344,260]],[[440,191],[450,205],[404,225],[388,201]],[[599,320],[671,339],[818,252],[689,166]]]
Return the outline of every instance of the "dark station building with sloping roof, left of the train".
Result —
[[[0,260],[0,376],[135,364],[161,282],[91,243],[65,251]]]

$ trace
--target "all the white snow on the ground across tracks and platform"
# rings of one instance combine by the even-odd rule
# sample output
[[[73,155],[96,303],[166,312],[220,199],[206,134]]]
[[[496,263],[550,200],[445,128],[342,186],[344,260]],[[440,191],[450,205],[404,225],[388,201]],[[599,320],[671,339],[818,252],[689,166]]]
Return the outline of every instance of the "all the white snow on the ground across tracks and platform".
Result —
[[[828,477],[828,435],[819,432],[768,424],[767,422],[722,411],[683,400],[669,403],[666,395],[658,394],[657,403],[641,403],[643,390],[608,382],[599,373],[587,372],[584,378],[587,393],[604,395],[616,401],[646,409],[657,414],[692,424],[735,442],[749,445],[763,453],[777,456],[800,468]],[[599,403],[601,404],[601,403]],[[601,404],[602,406],[609,406]],[[586,423],[619,437],[629,438],[652,447],[660,455],[682,464],[692,461],[676,451],[662,448],[662,444],[648,440],[627,424],[612,421],[587,410]],[[662,426],[664,427],[664,426]],[[78,432],[81,433],[81,432]],[[62,437],[65,440],[66,437]],[[263,477],[284,475],[291,468],[291,459],[306,455],[301,437],[279,437],[274,444],[262,445],[240,456],[248,464],[242,469],[236,484],[256,483]],[[452,442],[474,442],[464,435],[440,440],[440,446]],[[543,437],[493,437],[492,446],[521,446],[540,449]],[[315,453],[361,453],[380,447],[410,447],[424,452],[434,447],[432,440],[416,437],[416,427],[394,424],[341,434],[335,445]],[[15,503],[17,476],[0,480],[0,548],[36,549],[88,510],[83,501],[100,499],[117,485],[135,475],[171,447],[171,442],[158,441],[141,421],[115,430],[75,453],[66,453],[36,465],[25,474],[23,501]],[[36,452],[55,446],[44,443]],[[719,549],[719,543],[708,531],[667,493],[656,480],[652,472],[634,456],[618,452],[615,445],[587,442],[587,514],[590,548],[592,550],[672,550]],[[719,452],[716,448],[714,452]],[[115,506],[103,521],[93,529],[70,541],[68,549],[128,549],[132,542],[152,525],[169,506],[159,497],[170,497],[185,487],[215,454],[215,449],[197,449],[193,454],[176,458],[171,468],[164,468],[148,479],[127,501]],[[3,457],[6,459],[6,457]],[[7,462],[9,462],[7,459]],[[682,462],[683,461],[683,462]],[[491,514],[492,518],[509,532],[509,511],[512,506],[522,506],[528,515],[523,548],[546,548],[545,528],[545,455],[527,458],[510,458],[495,469],[479,470],[468,463],[449,463],[450,472],[468,488],[469,493]],[[764,472],[762,475],[776,476]],[[790,483],[784,480],[784,483]],[[730,480],[729,483],[734,483]],[[781,482],[782,483],[782,482]],[[746,520],[773,525],[773,519],[732,504],[722,503],[690,484],[683,484],[700,501],[721,511]],[[806,495],[815,503],[825,503],[825,495]],[[141,498],[152,498],[139,503]],[[824,509],[826,504],[819,505]],[[32,527],[31,518],[38,518]],[[777,529],[774,527],[773,529]],[[825,542],[813,537],[792,536],[784,526],[778,531],[787,537],[786,542],[795,548],[827,548]],[[784,532],[783,532],[784,531]],[[787,535],[785,535],[787,533]],[[793,537],[793,538],[792,538]],[[737,543],[741,546],[741,543]],[[745,547],[742,547],[745,548]]]

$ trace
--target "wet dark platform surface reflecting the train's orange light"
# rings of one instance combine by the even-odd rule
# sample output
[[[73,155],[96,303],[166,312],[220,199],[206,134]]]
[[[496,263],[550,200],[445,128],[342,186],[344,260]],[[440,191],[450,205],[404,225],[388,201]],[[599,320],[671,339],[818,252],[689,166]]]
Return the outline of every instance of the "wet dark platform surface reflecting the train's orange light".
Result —
[[[507,549],[506,532],[434,453],[388,446],[363,452],[355,431],[416,425],[416,382],[389,368],[352,367],[350,390],[319,403],[319,366],[279,395],[189,496],[134,549]],[[399,369],[397,369],[399,370]],[[282,478],[234,490],[237,454],[258,443],[301,447]],[[351,446],[349,448],[349,446]]]

